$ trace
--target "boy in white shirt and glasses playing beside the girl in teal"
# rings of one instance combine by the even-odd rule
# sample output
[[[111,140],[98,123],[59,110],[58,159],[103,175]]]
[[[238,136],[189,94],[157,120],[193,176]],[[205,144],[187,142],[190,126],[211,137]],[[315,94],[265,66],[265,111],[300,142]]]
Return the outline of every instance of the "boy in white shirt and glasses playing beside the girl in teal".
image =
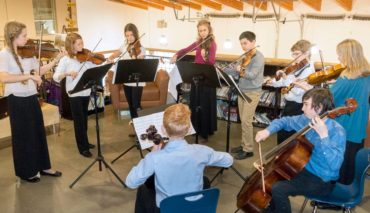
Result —
[[[293,44],[290,50],[292,52],[292,57],[295,59],[294,64],[300,64],[303,61],[306,63],[302,63],[303,67],[298,67],[288,75],[284,70],[278,70],[276,75],[279,76],[280,79],[277,80],[276,78],[273,78],[268,82],[268,84],[273,87],[286,87],[296,79],[304,79],[311,73],[314,73],[315,66],[313,62],[310,61],[310,47],[311,43],[307,40],[299,40]],[[293,67],[294,64],[292,64],[291,67]],[[285,107],[281,115],[282,117],[302,114],[302,96],[304,92],[305,91],[303,89],[295,87],[284,95]],[[277,133],[278,144],[285,141],[285,139],[289,138],[294,133],[295,131],[279,131]]]

